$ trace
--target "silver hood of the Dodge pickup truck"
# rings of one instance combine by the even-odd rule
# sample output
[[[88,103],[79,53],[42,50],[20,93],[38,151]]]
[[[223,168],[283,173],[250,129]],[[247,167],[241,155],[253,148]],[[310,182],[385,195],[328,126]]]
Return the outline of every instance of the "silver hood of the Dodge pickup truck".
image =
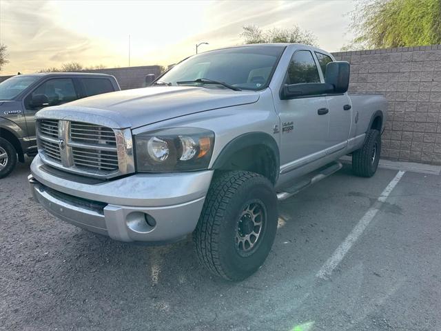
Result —
[[[196,112],[258,101],[258,92],[193,86],[154,86],[99,94],[48,107],[37,117],[88,121],[110,128],[139,128]]]

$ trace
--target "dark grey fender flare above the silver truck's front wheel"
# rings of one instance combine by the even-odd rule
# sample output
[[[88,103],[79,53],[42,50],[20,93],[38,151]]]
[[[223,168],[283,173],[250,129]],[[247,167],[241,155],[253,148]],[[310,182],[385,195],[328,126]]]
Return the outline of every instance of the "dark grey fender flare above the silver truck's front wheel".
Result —
[[[232,141],[229,141],[229,143],[227,143],[223,150],[221,150],[218,154],[218,157],[214,161],[212,168],[221,169],[236,152],[247,147],[259,145],[263,145],[269,148],[269,150],[271,150],[271,153],[273,154],[276,167],[274,182],[276,182],[278,179],[278,170],[280,168],[280,152],[276,140],[274,140],[273,137],[265,132],[247,132],[234,138]]]

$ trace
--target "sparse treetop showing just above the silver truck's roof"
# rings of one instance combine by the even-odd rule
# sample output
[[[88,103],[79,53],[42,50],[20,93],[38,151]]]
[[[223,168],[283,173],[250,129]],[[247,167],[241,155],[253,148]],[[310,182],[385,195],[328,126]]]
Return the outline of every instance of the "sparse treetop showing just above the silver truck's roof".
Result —
[[[243,26],[240,34],[245,43],[305,43],[316,45],[316,36],[307,30],[300,30],[298,26],[292,28],[272,28],[262,30],[258,26]]]

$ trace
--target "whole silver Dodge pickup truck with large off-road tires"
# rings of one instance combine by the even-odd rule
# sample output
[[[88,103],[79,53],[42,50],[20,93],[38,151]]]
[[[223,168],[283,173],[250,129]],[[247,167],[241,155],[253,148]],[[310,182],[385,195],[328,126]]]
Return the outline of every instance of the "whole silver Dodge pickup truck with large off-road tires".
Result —
[[[152,86],[37,113],[29,181],[49,212],[119,241],[193,233],[201,263],[238,281],[271,250],[278,199],[341,168],[371,177],[386,100],[347,94],[349,63],[300,44],[197,54]]]

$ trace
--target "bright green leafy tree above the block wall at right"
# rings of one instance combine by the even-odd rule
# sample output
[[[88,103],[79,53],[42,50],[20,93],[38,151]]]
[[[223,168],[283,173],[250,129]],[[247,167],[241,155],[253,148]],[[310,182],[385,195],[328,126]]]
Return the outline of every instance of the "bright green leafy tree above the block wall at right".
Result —
[[[351,12],[356,37],[346,49],[441,43],[440,0],[365,0]]]

